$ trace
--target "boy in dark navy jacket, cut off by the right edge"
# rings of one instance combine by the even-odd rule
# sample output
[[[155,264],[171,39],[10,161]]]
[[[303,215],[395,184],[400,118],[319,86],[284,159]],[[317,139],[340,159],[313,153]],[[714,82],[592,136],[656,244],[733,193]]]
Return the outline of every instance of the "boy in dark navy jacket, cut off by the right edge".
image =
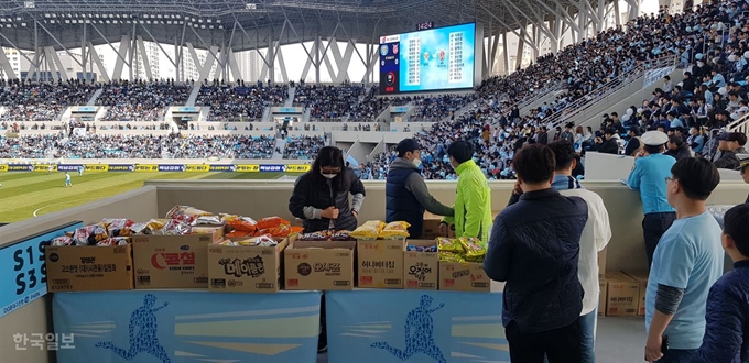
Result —
[[[694,363],[749,361],[749,204],[724,217],[723,249],[734,271],[718,279],[707,296],[707,327]]]

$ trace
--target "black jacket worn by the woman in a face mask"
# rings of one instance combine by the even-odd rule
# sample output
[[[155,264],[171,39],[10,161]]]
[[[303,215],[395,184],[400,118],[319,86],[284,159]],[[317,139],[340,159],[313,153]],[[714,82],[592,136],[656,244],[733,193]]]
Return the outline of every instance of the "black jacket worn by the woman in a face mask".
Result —
[[[357,220],[351,213],[348,194],[365,195],[365,186],[361,184],[361,180],[348,167],[344,168],[344,172],[333,180],[323,179],[322,177],[317,178],[312,173],[319,173],[319,170],[310,170],[300,176],[294,185],[294,191],[289,199],[289,211],[294,217],[304,220],[304,232],[325,231],[330,228],[330,220],[327,218],[306,218],[304,207],[326,209],[335,206],[338,208],[338,219],[333,221],[334,229],[355,230]],[[341,177],[345,178],[346,183],[341,187],[337,187],[336,182]]]

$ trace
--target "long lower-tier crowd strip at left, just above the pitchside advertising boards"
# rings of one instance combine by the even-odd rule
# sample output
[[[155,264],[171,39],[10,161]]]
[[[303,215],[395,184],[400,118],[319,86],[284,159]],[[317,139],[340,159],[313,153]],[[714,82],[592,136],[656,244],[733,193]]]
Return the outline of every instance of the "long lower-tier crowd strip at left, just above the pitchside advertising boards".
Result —
[[[270,158],[275,139],[242,135],[0,136],[0,158]]]

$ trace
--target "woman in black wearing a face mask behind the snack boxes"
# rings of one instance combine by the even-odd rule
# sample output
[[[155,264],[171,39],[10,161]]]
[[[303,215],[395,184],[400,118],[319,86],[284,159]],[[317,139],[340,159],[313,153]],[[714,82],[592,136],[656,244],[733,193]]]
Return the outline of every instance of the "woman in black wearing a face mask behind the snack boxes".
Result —
[[[349,206],[348,195],[354,196]],[[335,146],[319,150],[312,169],[296,180],[289,211],[304,220],[304,232],[352,231],[365,200],[365,186],[345,167],[344,153]]]

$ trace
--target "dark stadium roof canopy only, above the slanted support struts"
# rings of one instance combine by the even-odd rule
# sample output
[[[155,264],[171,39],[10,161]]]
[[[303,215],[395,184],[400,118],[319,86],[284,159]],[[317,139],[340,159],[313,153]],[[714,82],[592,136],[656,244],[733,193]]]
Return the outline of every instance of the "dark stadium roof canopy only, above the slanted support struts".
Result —
[[[639,0],[629,0],[637,2]],[[235,52],[336,37],[377,43],[381,35],[477,22],[485,34],[561,19],[579,29],[580,11],[594,23],[611,0],[4,0],[0,1],[0,45],[57,51],[119,42],[138,33],[161,44]],[[550,26],[539,26],[553,32]],[[546,29],[544,29],[546,28]],[[36,34],[37,36],[34,36]],[[532,34],[525,35],[530,41]],[[84,42],[84,43],[82,43]]]

